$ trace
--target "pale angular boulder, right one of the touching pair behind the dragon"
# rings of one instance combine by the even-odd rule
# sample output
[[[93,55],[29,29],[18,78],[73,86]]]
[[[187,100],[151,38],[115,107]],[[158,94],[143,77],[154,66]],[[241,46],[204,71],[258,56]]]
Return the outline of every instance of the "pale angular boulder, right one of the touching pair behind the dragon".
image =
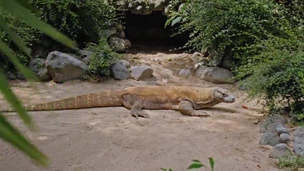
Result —
[[[130,71],[132,78],[135,80],[141,80],[153,74],[153,69],[150,66],[133,66]]]

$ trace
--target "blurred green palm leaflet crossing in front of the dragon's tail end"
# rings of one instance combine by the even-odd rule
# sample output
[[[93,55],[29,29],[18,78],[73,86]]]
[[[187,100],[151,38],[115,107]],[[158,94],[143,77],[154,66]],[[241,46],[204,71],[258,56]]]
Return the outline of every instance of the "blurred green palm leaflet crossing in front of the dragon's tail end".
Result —
[[[9,88],[8,81],[4,74],[0,71],[0,91],[4,95],[5,99],[10,103],[10,105],[16,110],[19,114],[20,118],[24,121],[29,128],[33,128],[33,122],[31,117],[26,112],[25,108],[21,104],[21,102],[17,99],[15,94]]]

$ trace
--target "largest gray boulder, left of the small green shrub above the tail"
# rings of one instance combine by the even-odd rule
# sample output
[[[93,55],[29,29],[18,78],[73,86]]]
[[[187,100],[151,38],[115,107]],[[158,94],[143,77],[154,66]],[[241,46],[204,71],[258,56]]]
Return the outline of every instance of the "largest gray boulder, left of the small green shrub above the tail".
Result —
[[[82,61],[59,51],[48,54],[46,68],[54,82],[64,82],[79,79],[88,71],[88,66]]]

